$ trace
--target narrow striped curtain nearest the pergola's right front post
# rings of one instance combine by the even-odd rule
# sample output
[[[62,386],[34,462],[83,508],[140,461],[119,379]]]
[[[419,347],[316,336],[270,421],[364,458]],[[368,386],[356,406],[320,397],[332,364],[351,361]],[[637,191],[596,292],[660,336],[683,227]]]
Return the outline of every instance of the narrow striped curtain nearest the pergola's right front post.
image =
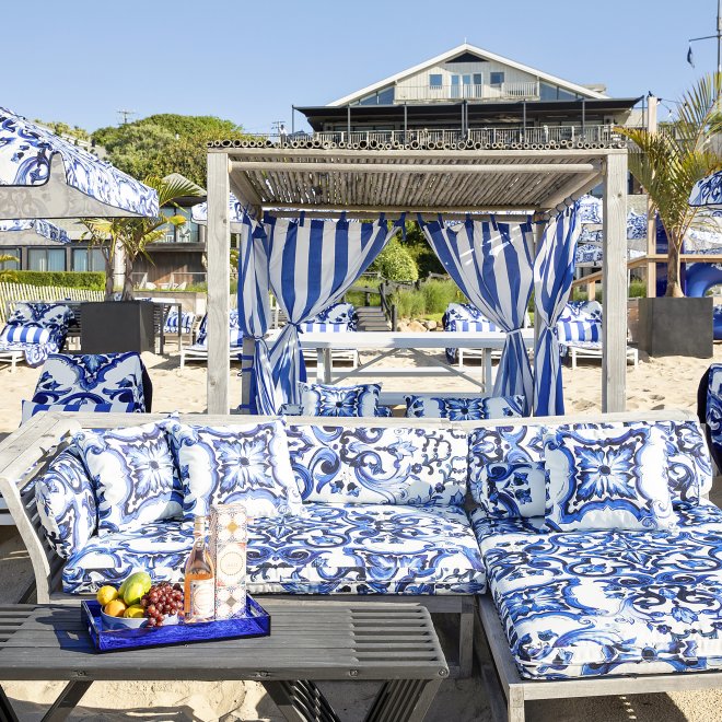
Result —
[[[579,202],[549,221],[534,264],[534,293],[539,329],[534,352],[534,415],[564,412],[557,322],[569,301],[574,280],[574,256],[581,226]]]

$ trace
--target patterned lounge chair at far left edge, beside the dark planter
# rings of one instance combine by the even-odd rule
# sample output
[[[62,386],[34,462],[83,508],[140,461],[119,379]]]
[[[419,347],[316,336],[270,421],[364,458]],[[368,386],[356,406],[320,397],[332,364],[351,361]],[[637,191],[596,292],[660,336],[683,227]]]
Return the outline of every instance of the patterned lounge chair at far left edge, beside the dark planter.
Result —
[[[0,331],[0,361],[10,363],[11,371],[23,358],[30,366],[40,365],[62,350],[72,318],[63,303],[18,303]]]

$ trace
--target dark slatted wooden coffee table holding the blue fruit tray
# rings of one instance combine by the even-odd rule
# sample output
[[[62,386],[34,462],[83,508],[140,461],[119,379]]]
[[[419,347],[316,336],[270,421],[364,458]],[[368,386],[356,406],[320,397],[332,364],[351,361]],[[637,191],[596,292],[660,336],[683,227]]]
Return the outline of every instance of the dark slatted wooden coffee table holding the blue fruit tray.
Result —
[[[412,603],[263,601],[270,637],[100,654],[80,605],[0,606],[0,680],[67,680],[44,722],[94,680],[259,682],[287,720],[338,721],[318,680],[380,680],[369,722],[423,720],[449,667],[429,612]],[[129,700],[131,701],[131,700]],[[0,686],[0,719],[16,722]]]

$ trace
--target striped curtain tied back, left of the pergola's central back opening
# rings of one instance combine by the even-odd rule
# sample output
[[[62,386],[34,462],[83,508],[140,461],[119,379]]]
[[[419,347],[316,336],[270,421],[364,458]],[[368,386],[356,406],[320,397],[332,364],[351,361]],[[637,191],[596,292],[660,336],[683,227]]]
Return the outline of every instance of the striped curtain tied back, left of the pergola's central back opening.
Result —
[[[396,233],[383,218],[374,223],[266,218],[270,241],[270,286],[289,318],[270,350],[279,403],[298,404],[306,370],[299,324],[338,301]]]

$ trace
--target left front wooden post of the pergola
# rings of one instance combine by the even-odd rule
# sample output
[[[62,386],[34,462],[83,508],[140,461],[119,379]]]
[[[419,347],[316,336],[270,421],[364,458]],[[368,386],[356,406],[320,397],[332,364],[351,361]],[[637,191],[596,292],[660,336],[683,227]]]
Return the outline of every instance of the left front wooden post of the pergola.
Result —
[[[231,218],[228,153],[208,153],[208,414],[228,414]]]

